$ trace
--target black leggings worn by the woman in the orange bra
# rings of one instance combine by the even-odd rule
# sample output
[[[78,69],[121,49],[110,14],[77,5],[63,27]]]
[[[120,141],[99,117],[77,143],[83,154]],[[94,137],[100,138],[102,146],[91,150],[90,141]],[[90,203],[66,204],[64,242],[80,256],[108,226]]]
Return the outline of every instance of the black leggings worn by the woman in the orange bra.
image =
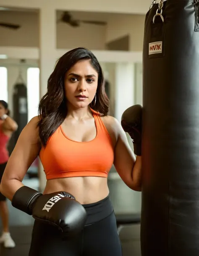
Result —
[[[122,256],[109,197],[83,206],[88,218],[75,238],[64,240],[56,227],[35,221],[29,256]]]

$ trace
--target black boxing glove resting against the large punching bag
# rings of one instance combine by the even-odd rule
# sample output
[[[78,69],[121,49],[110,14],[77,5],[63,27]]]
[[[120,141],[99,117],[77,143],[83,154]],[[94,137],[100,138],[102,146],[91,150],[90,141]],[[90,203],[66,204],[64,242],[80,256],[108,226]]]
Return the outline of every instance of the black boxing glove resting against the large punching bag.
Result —
[[[121,125],[125,132],[128,132],[134,144],[134,153],[141,156],[141,126],[142,106],[134,105],[127,108],[122,114]]]

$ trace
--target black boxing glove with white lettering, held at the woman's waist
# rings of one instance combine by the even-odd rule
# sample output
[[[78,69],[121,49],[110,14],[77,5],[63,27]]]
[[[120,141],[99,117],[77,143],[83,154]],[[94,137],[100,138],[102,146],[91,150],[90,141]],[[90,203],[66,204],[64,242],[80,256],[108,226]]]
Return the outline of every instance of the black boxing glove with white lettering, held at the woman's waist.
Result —
[[[73,195],[63,191],[43,195],[23,186],[14,194],[12,206],[34,219],[58,227],[64,236],[78,234],[86,224],[85,208]]]

